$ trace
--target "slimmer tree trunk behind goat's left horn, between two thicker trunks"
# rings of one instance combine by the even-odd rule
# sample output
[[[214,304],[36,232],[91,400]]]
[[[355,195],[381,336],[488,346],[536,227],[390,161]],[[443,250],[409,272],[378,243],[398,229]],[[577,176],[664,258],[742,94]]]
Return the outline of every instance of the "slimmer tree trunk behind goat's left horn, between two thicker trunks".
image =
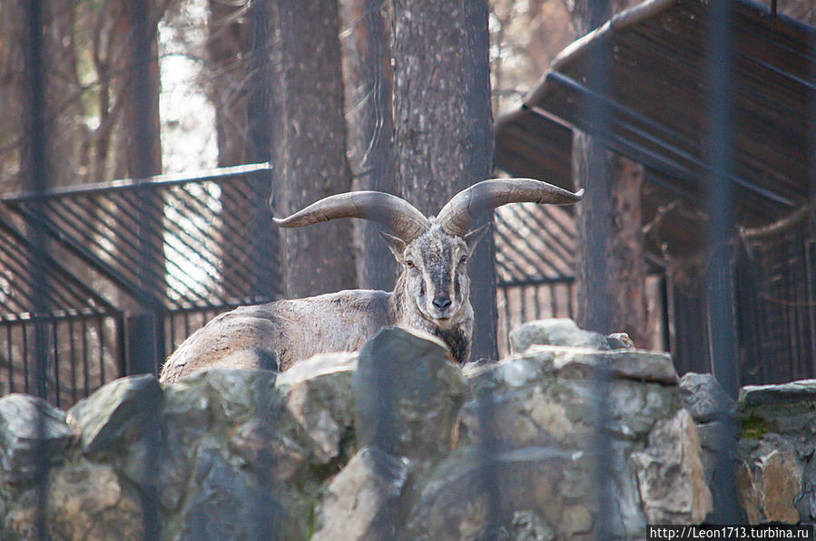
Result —
[[[384,0],[343,3],[352,32],[343,39],[349,162],[355,190],[375,189],[397,194],[394,157],[390,33]],[[345,33],[344,33],[345,34]],[[379,228],[366,220],[354,222],[354,247],[359,287],[394,288],[397,266]]]

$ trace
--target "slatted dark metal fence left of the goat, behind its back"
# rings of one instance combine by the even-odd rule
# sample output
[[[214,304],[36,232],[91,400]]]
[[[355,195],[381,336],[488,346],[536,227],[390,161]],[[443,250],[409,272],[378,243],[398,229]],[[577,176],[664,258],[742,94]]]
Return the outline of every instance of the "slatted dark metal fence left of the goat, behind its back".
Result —
[[[65,405],[126,373],[157,372],[215,314],[280,297],[270,210],[257,205],[269,171],[248,165],[4,198],[5,391],[33,390],[36,321],[52,329],[48,396]],[[42,227],[54,254],[43,314],[33,314],[31,242],[13,220]]]

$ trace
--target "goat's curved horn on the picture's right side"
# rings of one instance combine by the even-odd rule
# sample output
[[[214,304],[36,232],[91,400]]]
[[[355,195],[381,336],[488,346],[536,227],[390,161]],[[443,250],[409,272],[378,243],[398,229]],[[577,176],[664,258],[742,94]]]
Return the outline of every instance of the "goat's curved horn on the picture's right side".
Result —
[[[488,212],[508,203],[570,205],[584,197],[535,179],[487,179],[463,189],[439,211],[437,222],[452,235],[464,236]]]

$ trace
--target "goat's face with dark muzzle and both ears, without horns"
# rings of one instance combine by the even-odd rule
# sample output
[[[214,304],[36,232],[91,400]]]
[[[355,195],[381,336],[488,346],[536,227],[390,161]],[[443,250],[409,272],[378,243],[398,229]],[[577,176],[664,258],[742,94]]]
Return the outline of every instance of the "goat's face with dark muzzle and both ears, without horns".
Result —
[[[391,250],[402,266],[401,281],[408,302],[441,329],[457,324],[457,316],[468,305],[467,258],[482,231],[475,233],[457,237],[433,226],[407,244],[388,238]]]

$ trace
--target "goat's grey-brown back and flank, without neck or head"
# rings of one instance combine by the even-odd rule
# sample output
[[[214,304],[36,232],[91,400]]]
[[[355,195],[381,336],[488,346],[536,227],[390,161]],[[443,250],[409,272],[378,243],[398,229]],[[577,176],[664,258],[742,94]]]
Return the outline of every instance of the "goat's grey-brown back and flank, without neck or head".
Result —
[[[390,295],[349,290],[236,308],[192,333],[164,362],[160,380],[211,366],[286,370],[316,353],[356,351],[393,324]]]

